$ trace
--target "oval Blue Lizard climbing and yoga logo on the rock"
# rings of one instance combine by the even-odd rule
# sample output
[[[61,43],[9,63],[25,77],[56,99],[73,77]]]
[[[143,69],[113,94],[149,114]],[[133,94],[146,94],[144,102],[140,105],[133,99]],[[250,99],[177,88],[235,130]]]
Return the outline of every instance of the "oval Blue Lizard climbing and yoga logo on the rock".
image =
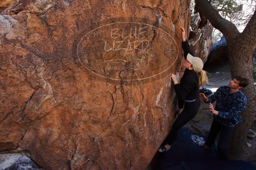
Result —
[[[77,57],[84,67],[100,77],[145,80],[173,65],[178,46],[170,33],[153,25],[116,22],[85,33],[77,45]]]

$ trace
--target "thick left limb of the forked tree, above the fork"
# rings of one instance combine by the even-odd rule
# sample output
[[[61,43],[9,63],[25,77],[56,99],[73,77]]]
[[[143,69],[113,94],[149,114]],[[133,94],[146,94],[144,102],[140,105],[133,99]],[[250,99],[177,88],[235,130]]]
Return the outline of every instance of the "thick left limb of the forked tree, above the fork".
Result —
[[[207,0],[195,0],[196,10],[202,13],[212,24],[212,26],[223,33],[227,42],[230,42],[239,34],[236,26],[222,18],[217,10],[215,10]]]

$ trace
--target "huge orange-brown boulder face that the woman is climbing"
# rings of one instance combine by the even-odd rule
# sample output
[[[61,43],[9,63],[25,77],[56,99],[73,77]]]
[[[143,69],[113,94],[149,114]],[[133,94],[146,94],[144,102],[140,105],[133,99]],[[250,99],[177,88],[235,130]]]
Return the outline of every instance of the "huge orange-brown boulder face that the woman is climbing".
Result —
[[[168,74],[182,69],[179,27],[189,21],[189,1],[178,0],[5,9],[0,151],[45,169],[145,169],[173,123]]]

